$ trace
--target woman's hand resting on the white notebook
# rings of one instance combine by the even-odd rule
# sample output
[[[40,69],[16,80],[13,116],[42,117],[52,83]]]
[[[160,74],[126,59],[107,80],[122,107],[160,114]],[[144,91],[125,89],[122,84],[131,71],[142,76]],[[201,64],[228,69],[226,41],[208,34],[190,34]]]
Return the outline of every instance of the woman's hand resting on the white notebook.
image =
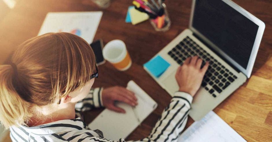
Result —
[[[131,106],[136,106],[138,104],[134,93],[120,86],[104,89],[102,91],[102,101],[106,108],[119,113],[126,112],[124,109],[115,106],[115,101],[125,102]]]

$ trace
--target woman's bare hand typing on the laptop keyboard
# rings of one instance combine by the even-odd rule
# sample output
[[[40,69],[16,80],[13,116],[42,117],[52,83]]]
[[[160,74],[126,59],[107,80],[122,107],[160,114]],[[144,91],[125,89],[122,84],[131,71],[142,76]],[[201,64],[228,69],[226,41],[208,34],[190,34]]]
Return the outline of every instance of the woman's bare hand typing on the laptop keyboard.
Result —
[[[198,56],[188,57],[182,66],[177,69],[176,80],[179,84],[179,91],[183,91],[194,96],[199,89],[203,76],[208,69],[206,62],[201,68],[202,59]]]

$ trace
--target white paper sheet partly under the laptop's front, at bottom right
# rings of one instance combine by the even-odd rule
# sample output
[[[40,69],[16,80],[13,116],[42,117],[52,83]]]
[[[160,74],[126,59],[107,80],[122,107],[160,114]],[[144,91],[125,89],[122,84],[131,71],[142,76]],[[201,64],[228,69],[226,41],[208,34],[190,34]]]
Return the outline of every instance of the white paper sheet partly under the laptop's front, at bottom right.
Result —
[[[216,113],[210,111],[200,121],[194,122],[179,137],[179,142],[246,142]]]

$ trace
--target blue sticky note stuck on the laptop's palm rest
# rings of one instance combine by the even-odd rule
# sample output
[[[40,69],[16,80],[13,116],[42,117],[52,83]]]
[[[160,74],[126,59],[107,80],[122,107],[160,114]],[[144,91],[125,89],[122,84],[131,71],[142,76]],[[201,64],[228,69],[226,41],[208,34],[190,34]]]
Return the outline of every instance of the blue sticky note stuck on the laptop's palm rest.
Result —
[[[170,64],[160,55],[144,64],[144,67],[157,78],[166,71]]]

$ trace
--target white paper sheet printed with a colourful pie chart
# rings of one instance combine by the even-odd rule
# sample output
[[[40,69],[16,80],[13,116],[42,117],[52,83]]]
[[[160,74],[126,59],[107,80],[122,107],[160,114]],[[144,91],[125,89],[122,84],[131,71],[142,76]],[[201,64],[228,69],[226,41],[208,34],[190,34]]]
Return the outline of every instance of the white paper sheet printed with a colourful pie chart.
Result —
[[[89,44],[93,41],[102,12],[49,12],[38,35],[49,32],[69,32]]]

